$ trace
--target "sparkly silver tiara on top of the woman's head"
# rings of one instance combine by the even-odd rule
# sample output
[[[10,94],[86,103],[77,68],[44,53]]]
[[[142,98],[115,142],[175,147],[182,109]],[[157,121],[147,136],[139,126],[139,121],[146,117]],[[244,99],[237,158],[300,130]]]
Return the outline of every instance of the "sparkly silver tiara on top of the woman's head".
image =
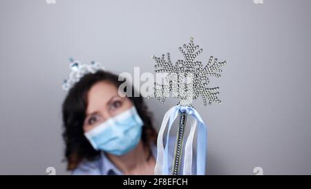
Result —
[[[81,61],[73,58],[70,58],[69,60],[69,68],[71,71],[69,73],[69,78],[64,80],[62,84],[62,89],[64,91],[71,89],[71,87],[73,87],[76,82],[79,82],[84,75],[88,73],[95,73],[99,70],[105,70],[105,68],[100,65],[100,62],[93,61],[91,64],[82,64]]]

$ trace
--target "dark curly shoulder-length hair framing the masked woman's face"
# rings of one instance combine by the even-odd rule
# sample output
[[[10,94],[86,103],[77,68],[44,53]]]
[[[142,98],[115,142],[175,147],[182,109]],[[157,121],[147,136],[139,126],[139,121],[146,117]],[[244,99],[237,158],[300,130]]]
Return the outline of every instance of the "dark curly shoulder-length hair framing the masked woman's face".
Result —
[[[67,170],[74,170],[79,163],[87,159],[92,161],[100,152],[93,149],[91,143],[84,136],[83,123],[86,116],[87,93],[91,87],[97,82],[109,81],[115,87],[119,87],[124,81],[119,81],[118,76],[107,71],[97,71],[96,73],[88,73],[84,75],[68,91],[68,94],[62,105],[62,117],[64,124],[64,142],[66,145],[65,156],[67,161]],[[129,86],[129,85],[126,85]],[[126,87],[125,87],[126,91]],[[134,88],[132,88],[134,93]],[[151,113],[148,111],[142,96],[127,97],[135,105],[135,108],[144,122],[142,127],[142,142],[144,147],[149,150],[149,158],[151,154],[151,143],[156,143],[157,133],[153,127]]]

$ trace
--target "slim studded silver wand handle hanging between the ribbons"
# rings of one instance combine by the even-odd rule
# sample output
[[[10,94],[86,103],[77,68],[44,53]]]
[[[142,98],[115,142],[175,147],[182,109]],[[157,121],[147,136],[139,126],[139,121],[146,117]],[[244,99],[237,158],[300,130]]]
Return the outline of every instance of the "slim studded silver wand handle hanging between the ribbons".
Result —
[[[175,154],[173,159],[173,175],[178,174],[178,170],[180,168],[180,159],[182,158],[182,141],[185,133],[185,125],[187,121],[187,113],[180,112],[180,122],[177,132],[177,139],[175,145]]]

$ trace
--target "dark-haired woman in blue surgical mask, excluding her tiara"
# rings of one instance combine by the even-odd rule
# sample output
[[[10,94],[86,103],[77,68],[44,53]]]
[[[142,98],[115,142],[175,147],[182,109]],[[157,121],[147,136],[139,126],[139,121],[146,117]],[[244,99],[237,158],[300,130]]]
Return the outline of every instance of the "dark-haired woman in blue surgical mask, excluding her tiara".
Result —
[[[151,114],[142,96],[121,97],[120,84],[117,75],[97,71],[68,91],[63,136],[73,174],[153,174],[157,134]]]

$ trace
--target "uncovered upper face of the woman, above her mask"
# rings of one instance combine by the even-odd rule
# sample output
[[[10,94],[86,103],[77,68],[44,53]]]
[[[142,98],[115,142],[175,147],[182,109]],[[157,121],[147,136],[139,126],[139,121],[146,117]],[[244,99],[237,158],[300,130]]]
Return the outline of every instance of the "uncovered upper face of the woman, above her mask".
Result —
[[[84,132],[97,127],[105,120],[130,109],[133,102],[127,97],[120,97],[117,87],[111,82],[97,82],[87,94]]]

